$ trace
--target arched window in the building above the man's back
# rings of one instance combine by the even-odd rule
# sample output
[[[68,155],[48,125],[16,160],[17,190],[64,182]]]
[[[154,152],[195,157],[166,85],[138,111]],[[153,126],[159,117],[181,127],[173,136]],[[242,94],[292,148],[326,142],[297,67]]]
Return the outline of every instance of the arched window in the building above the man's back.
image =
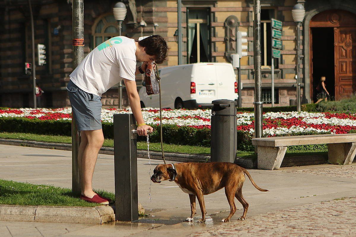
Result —
[[[99,44],[107,41],[108,39],[118,36],[119,31],[117,30],[117,22],[112,13],[105,14],[95,21],[92,28],[93,32],[93,48],[97,47]],[[121,35],[126,35],[126,25],[122,23]]]

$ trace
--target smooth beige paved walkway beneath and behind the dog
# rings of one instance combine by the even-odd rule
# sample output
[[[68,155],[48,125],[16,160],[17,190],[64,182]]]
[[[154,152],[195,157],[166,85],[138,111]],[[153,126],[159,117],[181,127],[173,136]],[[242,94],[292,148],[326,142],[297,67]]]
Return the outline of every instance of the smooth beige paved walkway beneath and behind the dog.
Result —
[[[114,160],[111,155],[99,155],[93,185],[96,189],[105,189],[114,192]],[[53,184],[61,187],[71,187],[71,152],[61,150],[39,149],[32,147],[0,145],[0,178],[14,181]],[[150,179],[149,174],[153,168],[162,161],[153,160],[152,166],[147,159],[138,158],[138,201],[141,203],[149,217],[141,223],[111,223],[107,225],[78,225],[60,223],[30,223],[30,222],[0,222],[0,233],[4,236],[144,236],[170,235],[187,236],[197,231],[216,230],[230,228],[236,229],[237,219],[242,214],[242,206],[236,202],[239,208],[232,217],[230,223],[221,223],[220,220],[228,215],[229,205],[224,190],[204,197],[206,209],[210,218],[203,225],[186,223],[190,216],[190,203],[187,194],[183,193],[173,182],[152,184],[152,201],[149,200]],[[171,162],[169,162],[171,163]],[[268,189],[270,192],[260,192],[255,189],[248,179],[245,181],[243,194],[250,208],[246,221],[241,222],[248,226],[248,221],[269,216],[270,220],[277,219],[279,212],[294,213],[294,209],[303,205],[312,206],[318,203],[337,198],[356,196],[356,179],[354,176],[356,163],[350,166],[321,165],[310,167],[288,167],[278,171],[249,170],[252,178],[258,186]],[[342,171],[342,172],[341,172]],[[333,173],[333,174],[331,174]],[[330,175],[325,175],[330,174]],[[344,206],[344,204],[340,204]],[[325,207],[325,205],[323,204]],[[327,204],[326,204],[327,206]],[[339,209],[338,206],[336,206]],[[150,211],[152,209],[152,211]],[[302,208],[301,210],[304,210]],[[335,208],[326,209],[326,211]],[[324,212],[320,209],[321,212]],[[311,216],[316,219],[321,215]],[[269,213],[269,214],[267,214]],[[199,218],[200,210],[197,207]],[[284,214],[283,214],[284,215]],[[355,214],[352,214],[355,216]],[[261,217],[262,219],[264,217]],[[308,219],[309,218],[309,219]],[[319,223],[310,219],[310,216],[301,216],[300,221]],[[258,220],[258,219],[256,219]],[[252,223],[251,222],[251,223]],[[340,222],[340,221],[339,221]],[[238,222],[240,223],[240,222]],[[240,223],[240,225],[241,225]],[[356,223],[356,220],[353,222]],[[240,226],[241,228],[243,226]],[[326,226],[325,228],[327,228]],[[345,227],[345,226],[343,226]],[[253,227],[251,227],[253,228]],[[261,225],[261,228],[264,228]],[[287,229],[291,227],[286,227]],[[346,227],[345,227],[346,228]],[[226,229],[226,231],[229,231]],[[243,231],[241,229],[241,231]],[[328,231],[325,231],[328,232]],[[199,232],[200,233],[200,232]],[[204,232],[208,233],[208,232]],[[241,232],[242,233],[242,232]],[[260,235],[266,236],[261,231]],[[298,232],[295,232],[298,233]],[[235,233],[235,235],[240,235]],[[202,234],[203,235],[203,234]],[[219,234],[218,236],[223,236]],[[244,236],[244,235],[241,235]],[[301,235],[303,236],[303,235]],[[347,236],[347,235],[346,235]]]

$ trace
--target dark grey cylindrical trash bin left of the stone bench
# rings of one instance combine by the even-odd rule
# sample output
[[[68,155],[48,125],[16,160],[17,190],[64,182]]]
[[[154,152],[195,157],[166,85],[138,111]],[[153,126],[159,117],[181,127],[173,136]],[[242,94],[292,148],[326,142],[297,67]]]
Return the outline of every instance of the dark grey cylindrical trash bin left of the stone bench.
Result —
[[[210,161],[235,161],[237,149],[237,102],[218,99],[211,109]]]

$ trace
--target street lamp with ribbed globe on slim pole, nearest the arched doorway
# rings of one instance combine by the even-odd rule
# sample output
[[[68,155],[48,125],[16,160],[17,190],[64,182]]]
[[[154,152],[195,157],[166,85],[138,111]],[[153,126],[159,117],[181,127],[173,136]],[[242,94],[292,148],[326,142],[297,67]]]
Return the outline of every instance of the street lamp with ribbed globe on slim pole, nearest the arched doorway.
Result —
[[[305,9],[302,4],[296,4],[292,10],[294,22],[297,23],[297,111],[300,112],[300,25],[305,17]]]

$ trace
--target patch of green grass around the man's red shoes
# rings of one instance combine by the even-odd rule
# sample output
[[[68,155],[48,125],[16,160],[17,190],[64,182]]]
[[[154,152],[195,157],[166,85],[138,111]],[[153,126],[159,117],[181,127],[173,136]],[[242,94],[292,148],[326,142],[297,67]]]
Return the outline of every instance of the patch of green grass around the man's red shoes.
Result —
[[[96,190],[101,196],[115,201],[115,194]],[[29,184],[0,179],[0,204],[46,206],[98,206],[72,194],[68,188]]]

